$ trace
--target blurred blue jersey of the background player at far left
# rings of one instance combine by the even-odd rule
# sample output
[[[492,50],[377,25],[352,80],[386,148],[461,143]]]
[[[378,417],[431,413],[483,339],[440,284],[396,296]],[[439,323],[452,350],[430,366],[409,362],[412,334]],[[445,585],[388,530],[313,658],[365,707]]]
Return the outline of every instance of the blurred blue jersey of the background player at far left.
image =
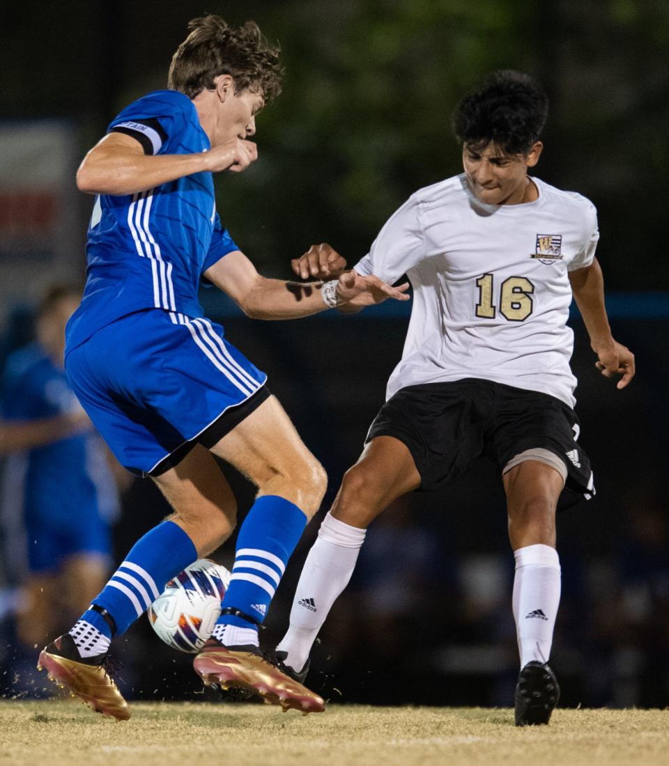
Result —
[[[80,409],[64,370],[38,344],[8,358],[2,394],[8,421],[41,420]],[[23,466],[25,519],[65,523],[77,515],[113,516],[118,497],[103,450],[92,428],[28,450]]]

